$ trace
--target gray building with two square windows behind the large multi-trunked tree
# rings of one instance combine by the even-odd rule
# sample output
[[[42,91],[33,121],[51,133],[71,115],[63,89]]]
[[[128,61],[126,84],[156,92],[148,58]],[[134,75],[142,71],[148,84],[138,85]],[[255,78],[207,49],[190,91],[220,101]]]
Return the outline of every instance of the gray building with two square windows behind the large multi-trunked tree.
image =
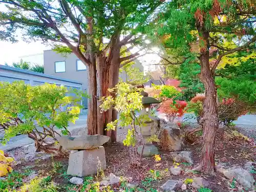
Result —
[[[143,72],[143,66],[138,60],[135,60],[134,67]],[[77,58],[74,53],[63,55],[53,50],[44,51],[44,68],[45,74],[54,75],[60,78],[72,79],[82,82],[82,90],[88,90],[88,74],[86,66]],[[119,74],[124,81],[125,72]],[[88,99],[83,99],[84,108],[87,109]]]

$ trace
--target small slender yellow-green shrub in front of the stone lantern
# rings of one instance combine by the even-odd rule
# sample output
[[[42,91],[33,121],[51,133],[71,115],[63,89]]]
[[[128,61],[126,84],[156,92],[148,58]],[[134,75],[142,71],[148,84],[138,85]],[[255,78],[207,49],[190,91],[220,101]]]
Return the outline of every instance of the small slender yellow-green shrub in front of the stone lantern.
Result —
[[[127,130],[126,138],[123,140],[125,146],[129,146],[130,150],[133,151],[132,163],[137,163],[141,160],[137,159],[137,148],[135,147],[137,143],[136,136],[138,132],[136,130],[136,125],[141,129],[141,126],[145,124],[146,121],[150,120],[148,114],[141,113],[136,115],[137,112],[140,112],[143,109],[142,105],[142,89],[137,88],[137,86],[126,83],[119,82],[115,88],[109,90],[112,94],[115,94],[115,97],[103,97],[101,98],[102,104],[100,105],[101,111],[107,111],[111,107],[114,107],[119,113],[119,119],[107,124],[106,130],[115,130],[117,124],[120,126],[131,126],[131,129]],[[142,137],[143,140],[143,137]],[[143,141],[144,143],[144,141]],[[141,154],[143,151],[141,152]]]

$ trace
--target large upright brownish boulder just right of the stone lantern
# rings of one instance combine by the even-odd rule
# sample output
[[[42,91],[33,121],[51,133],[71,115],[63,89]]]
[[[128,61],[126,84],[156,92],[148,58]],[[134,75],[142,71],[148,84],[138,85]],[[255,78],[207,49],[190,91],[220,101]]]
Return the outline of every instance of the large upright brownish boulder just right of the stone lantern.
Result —
[[[175,123],[166,124],[158,136],[159,145],[165,151],[181,151],[181,130]]]

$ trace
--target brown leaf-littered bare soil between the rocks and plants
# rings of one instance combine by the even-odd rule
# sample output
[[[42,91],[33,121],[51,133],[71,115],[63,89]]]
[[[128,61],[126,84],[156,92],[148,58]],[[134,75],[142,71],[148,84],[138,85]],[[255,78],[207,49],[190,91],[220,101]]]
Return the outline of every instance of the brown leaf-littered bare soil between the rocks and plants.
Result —
[[[125,129],[119,130],[125,135]],[[220,129],[216,139],[216,163],[217,165],[225,163],[226,166],[244,166],[248,161],[256,162],[256,145],[251,139],[247,141],[243,138],[230,138],[230,130]],[[123,138],[123,135],[120,137]],[[224,176],[217,172],[215,176],[207,176],[203,173],[193,172],[192,169],[196,167],[196,164],[200,162],[201,151],[201,136],[198,136],[198,142],[195,144],[189,144],[184,142],[183,151],[190,151],[194,160],[194,165],[187,163],[180,164],[182,167],[182,173],[180,176],[173,176],[170,174],[169,168],[174,166],[174,161],[170,157],[170,152],[161,151],[159,149],[161,161],[156,162],[154,157],[142,158],[141,167],[134,167],[131,165],[129,150],[126,146],[123,146],[121,139],[119,142],[108,144],[105,146],[106,163],[107,168],[104,170],[104,175],[107,177],[110,173],[118,177],[126,178],[129,182],[135,182],[143,188],[141,182],[150,176],[150,170],[158,170],[160,176],[154,180],[152,188],[159,189],[159,187],[169,179],[185,180],[186,178],[203,177],[210,182],[210,189],[215,192],[227,192],[236,191],[229,187],[229,182]],[[157,145],[157,144],[156,144]],[[60,167],[57,165],[60,164]],[[30,168],[40,176],[51,175],[55,183],[59,186],[65,186],[69,184],[70,176],[65,174],[68,166],[68,157],[53,157],[49,160],[29,162],[26,164],[16,165],[14,170],[23,171]],[[101,180],[101,176],[95,176],[95,180]],[[256,176],[254,174],[254,178]],[[119,190],[119,186],[115,186],[115,190]],[[68,191],[68,190],[61,190]],[[181,191],[181,190],[177,190]],[[184,190],[183,190],[184,191]],[[197,191],[191,185],[187,185],[187,192]],[[244,190],[245,191],[245,190]]]

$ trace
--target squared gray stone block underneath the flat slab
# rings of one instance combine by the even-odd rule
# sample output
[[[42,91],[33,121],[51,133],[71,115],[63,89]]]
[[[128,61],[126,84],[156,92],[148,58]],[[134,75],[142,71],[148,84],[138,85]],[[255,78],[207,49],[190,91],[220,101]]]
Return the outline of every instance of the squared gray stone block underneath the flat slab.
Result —
[[[67,174],[78,177],[96,174],[106,169],[105,150],[103,146],[93,150],[82,150],[69,155]]]

